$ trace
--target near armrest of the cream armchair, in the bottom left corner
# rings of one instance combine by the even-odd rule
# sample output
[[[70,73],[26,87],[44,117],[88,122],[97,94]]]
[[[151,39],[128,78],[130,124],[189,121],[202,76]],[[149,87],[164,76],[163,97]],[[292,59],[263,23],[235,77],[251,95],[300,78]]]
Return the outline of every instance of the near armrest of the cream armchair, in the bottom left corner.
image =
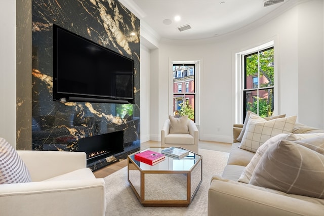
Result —
[[[103,179],[0,185],[3,216],[105,215]]]

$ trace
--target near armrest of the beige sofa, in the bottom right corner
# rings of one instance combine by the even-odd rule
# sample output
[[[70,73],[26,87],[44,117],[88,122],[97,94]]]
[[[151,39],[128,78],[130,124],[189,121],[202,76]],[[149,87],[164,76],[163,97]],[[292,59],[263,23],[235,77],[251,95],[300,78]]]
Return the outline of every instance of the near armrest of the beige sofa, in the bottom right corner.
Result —
[[[208,191],[209,216],[315,216],[323,212],[320,204],[215,179]]]

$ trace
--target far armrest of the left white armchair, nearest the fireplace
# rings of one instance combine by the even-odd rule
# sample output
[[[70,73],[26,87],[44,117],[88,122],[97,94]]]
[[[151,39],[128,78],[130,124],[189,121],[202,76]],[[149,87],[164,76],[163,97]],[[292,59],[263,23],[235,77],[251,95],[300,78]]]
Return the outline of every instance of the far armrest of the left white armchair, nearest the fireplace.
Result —
[[[85,152],[21,150],[17,153],[26,164],[33,182],[87,167]]]

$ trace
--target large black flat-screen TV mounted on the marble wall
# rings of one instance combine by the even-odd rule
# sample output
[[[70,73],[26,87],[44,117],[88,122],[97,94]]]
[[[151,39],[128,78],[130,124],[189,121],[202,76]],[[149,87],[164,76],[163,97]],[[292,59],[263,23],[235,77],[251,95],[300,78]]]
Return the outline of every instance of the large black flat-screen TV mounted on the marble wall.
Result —
[[[53,31],[54,100],[134,103],[132,59],[57,25]]]

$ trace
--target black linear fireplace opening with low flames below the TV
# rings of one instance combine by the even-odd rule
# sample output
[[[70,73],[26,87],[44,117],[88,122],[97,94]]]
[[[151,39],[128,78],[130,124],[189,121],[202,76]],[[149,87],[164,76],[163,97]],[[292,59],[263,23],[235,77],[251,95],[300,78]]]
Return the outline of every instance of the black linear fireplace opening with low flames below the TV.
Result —
[[[78,151],[87,154],[87,164],[124,151],[124,131],[79,139]]]

